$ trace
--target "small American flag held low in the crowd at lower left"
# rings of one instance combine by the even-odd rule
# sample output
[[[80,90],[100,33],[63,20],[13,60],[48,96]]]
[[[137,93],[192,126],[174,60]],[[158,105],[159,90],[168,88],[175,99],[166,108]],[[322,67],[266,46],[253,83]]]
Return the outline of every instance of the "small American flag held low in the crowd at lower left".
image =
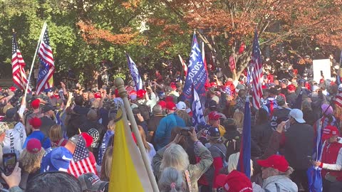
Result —
[[[68,173],[73,176],[81,176],[81,174],[93,173],[98,174],[95,169],[95,157],[86,148],[86,141],[81,134],[79,135],[76,149],[73,153],[73,160],[70,162]]]

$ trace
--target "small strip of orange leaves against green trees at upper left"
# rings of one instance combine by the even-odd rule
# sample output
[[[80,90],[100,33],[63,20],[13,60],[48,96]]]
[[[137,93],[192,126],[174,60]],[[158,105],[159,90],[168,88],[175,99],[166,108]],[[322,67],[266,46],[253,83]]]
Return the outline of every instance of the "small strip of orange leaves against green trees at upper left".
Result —
[[[82,32],[83,39],[88,43],[98,44],[100,41],[108,41],[113,44],[125,45],[131,43],[138,33],[132,33],[131,28],[122,28],[123,34],[113,34],[108,30],[98,29],[91,23],[80,21],[77,23]]]

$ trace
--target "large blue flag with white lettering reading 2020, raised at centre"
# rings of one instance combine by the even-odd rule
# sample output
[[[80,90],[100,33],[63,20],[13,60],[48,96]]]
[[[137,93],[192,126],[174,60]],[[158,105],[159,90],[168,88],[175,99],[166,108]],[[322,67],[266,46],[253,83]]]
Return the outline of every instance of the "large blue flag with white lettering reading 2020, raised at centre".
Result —
[[[204,84],[207,82],[207,71],[204,68],[201,50],[199,49],[196,33],[192,38],[192,47],[190,53],[190,61],[187,66],[187,79],[183,88],[183,93],[187,100],[192,98],[192,86],[199,95],[204,94]]]

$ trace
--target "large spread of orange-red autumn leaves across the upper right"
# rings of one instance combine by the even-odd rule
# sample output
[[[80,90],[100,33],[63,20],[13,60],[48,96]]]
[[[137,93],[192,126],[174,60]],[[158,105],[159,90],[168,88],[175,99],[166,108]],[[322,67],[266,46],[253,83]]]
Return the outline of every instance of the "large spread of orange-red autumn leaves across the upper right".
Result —
[[[166,1],[166,0],[165,0]],[[225,36],[229,45],[252,39],[254,28],[269,44],[311,36],[320,46],[342,48],[342,0],[173,0],[168,6],[182,13],[190,29],[208,36]],[[177,24],[153,16],[149,23],[175,30]],[[279,27],[278,27],[279,26]],[[278,29],[277,29],[278,28]],[[266,33],[267,32],[267,33]],[[265,35],[265,36],[264,36]]]

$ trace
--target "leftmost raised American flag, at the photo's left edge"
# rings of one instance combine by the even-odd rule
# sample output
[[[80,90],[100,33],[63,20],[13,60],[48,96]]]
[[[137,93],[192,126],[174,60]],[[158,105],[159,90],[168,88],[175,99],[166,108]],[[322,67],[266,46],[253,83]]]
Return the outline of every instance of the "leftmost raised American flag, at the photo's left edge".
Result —
[[[12,75],[13,82],[19,87],[21,90],[25,90],[27,86],[27,78],[25,73],[25,62],[23,56],[20,53],[18,43],[16,42],[16,34],[13,34],[12,41]],[[28,87],[29,91],[31,90]]]

